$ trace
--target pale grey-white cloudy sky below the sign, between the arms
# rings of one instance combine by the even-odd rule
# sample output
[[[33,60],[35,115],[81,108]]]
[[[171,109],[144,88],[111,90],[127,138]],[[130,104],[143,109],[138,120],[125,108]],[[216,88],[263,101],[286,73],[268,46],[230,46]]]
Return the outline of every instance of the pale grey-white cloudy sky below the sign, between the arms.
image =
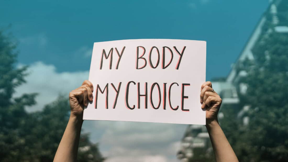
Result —
[[[165,157],[163,161],[177,161],[176,154],[186,125],[98,121],[95,128],[103,129],[100,145],[109,159],[144,161],[143,158]],[[154,160],[158,161],[158,160]]]

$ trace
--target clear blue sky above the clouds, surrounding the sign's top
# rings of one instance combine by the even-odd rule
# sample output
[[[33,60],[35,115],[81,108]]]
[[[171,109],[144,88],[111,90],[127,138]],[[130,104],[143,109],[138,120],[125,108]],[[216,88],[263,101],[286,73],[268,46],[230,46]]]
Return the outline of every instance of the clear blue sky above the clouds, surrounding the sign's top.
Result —
[[[41,61],[58,72],[88,70],[85,52],[97,41],[205,40],[210,80],[229,73],[267,6],[268,0],[2,1],[0,26],[12,24],[20,63]]]

